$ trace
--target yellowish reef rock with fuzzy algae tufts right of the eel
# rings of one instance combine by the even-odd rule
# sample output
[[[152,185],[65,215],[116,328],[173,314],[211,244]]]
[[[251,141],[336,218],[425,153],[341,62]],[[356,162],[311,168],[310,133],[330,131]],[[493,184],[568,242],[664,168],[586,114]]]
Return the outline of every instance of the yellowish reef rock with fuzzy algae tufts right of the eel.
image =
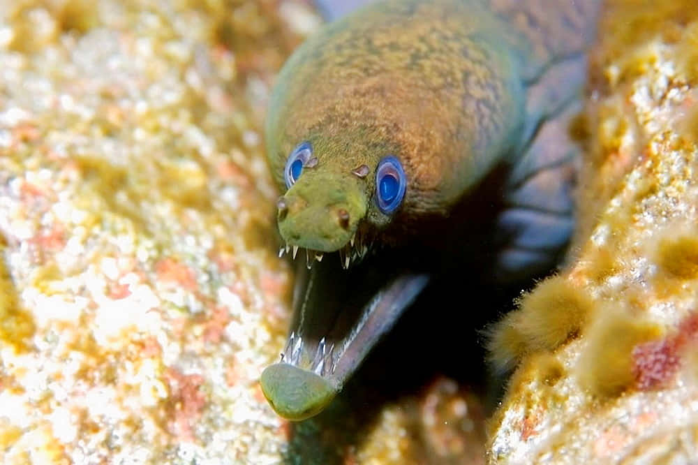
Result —
[[[607,2],[571,256],[491,341],[491,463],[698,457],[697,50],[695,2]]]

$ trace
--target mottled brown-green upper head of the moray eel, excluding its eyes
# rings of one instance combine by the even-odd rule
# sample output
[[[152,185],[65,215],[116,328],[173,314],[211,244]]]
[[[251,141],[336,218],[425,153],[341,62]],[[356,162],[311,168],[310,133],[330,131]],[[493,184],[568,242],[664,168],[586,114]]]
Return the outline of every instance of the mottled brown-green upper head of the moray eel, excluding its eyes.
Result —
[[[473,36],[482,16],[461,1],[385,3],[330,25],[293,55],[269,112],[269,161],[280,176],[306,140],[319,163],[285,195],[288,243],[331,251],[361,219],[386,226],[390,219],[371,201],[383,156],[399,156],[406,170],[401,216],[409,221],[445,211],[513,152],[523,89],[498,34],[480,28]],[[351,170],[362,164],[371,172],[359,179]],[[327,214],[339,205],[350,213],[346,230]]]

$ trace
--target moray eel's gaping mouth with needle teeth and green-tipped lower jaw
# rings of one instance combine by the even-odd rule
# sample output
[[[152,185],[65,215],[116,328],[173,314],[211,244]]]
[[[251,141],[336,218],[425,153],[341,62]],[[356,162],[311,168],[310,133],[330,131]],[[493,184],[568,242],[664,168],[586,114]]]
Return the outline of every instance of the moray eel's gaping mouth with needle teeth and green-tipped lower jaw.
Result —
[[[325,253],[339,260],[307,251],[309,270],[299,267],[288,340],[261,378],[269,403],[290,420],[322,411],[429,281],[399,251],[359,253],[356,244]]]

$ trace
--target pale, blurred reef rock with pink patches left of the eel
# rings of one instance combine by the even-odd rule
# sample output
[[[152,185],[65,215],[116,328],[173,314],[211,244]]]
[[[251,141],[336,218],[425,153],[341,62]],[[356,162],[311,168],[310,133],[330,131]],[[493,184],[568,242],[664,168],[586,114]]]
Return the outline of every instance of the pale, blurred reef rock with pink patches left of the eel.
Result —
[[[0,2],[0,462],[280,462],[260,121],[302,3]]]

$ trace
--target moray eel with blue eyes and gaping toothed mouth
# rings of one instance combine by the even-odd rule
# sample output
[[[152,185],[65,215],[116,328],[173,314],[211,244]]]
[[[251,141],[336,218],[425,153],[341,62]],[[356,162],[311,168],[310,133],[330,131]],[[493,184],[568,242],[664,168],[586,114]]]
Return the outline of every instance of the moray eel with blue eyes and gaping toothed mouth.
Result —
[[[267,158],[284,192],[280,254],[302,250],[310,271],[260,378],[279,415],[322,411],[443,263],[498,282],[554,265],[574,227],[567,126],[599,8],[380,1],[288,59]]]

